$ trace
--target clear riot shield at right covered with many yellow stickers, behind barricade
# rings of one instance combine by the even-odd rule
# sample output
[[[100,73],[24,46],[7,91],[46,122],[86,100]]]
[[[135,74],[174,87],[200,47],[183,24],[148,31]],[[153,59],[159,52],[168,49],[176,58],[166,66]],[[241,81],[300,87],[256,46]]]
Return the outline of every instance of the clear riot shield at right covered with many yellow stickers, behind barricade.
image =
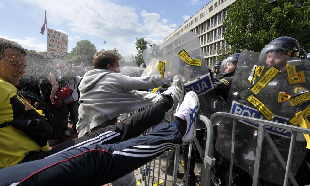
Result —
[[[303,111],[302,117],[307,120],[310,98],[307,98],[305,94],[310,89],[309,60],[268,55],[249,51],[241,52],[224,111],[287,125],[292,125],[294,120],[291,118]],[[282,62],[279,63],[281,65],[270,65],[268,60],[271,57],[274,58],[273,60],[277,59],[278,62],[281,59]],[[216,150],[228,160],[231,160],[232,122],[228,118],[222,119],[215,145]],[[266,127],[265,130],[286,161],[291,131],[275,127]],[[253,173],[258,124],[238,120],[235,132],[233,163]],[[291,160],[293,175],[297,173],[304,160],[308,151],[306,146],[305,137],[302,134],[297,135]],[[285,177],[285,170],[266,139],[263,141],[259,177],[282,185]]]

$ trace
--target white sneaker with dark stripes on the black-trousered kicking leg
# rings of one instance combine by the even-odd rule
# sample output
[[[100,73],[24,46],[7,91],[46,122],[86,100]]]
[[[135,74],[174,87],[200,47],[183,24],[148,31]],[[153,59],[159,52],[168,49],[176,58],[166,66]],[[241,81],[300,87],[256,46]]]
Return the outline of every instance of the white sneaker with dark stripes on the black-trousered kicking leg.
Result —
[[[170,95],[172,97],[173,105],[167,112],[174,111],[178,107],[178,104],[182,103],[184,96],[184,84],[182,78],[179,75],[174,76],[171,86],[168,87],[168,90],[163,92],[162,95]]]

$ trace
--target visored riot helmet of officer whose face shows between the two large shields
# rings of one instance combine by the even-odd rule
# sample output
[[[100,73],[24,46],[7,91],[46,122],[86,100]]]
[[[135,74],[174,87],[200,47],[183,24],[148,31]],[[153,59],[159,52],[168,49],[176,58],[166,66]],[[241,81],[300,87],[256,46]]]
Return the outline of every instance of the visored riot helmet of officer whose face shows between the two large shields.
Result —
[[[220,73],[222,77],[233,76],[233,74],[235,73],[239,55],[240,53],[232,54],[222,61],[220,67]]]

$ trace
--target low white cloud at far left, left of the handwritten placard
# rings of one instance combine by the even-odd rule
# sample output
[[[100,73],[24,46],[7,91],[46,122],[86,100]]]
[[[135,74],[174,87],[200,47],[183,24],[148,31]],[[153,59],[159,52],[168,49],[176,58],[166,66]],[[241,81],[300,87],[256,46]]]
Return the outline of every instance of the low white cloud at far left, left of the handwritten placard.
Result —
[[[37,52],[46,51],[46,44],[37,43],[38,41],[37,38],[24,37],[24,39],[11,39],[11,38],[8,38],[2,35],[0,35],[0,37],[7,39],[7,40],[15,41],[16,43],[18,43],[25,49],[35,50]]]

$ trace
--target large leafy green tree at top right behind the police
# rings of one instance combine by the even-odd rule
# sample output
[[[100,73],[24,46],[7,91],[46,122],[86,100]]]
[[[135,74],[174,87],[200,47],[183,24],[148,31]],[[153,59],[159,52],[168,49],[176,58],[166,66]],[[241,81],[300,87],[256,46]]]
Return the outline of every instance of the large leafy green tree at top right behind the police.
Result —
[[[226,30],[223,36],[231,45],[231,53],[242,50],[260,52],[271,40],[290,36],[302,48],[310,50],[310,0],[299,0],[301,8],[294,1],[238,0],[228,9],[223,22]]]

